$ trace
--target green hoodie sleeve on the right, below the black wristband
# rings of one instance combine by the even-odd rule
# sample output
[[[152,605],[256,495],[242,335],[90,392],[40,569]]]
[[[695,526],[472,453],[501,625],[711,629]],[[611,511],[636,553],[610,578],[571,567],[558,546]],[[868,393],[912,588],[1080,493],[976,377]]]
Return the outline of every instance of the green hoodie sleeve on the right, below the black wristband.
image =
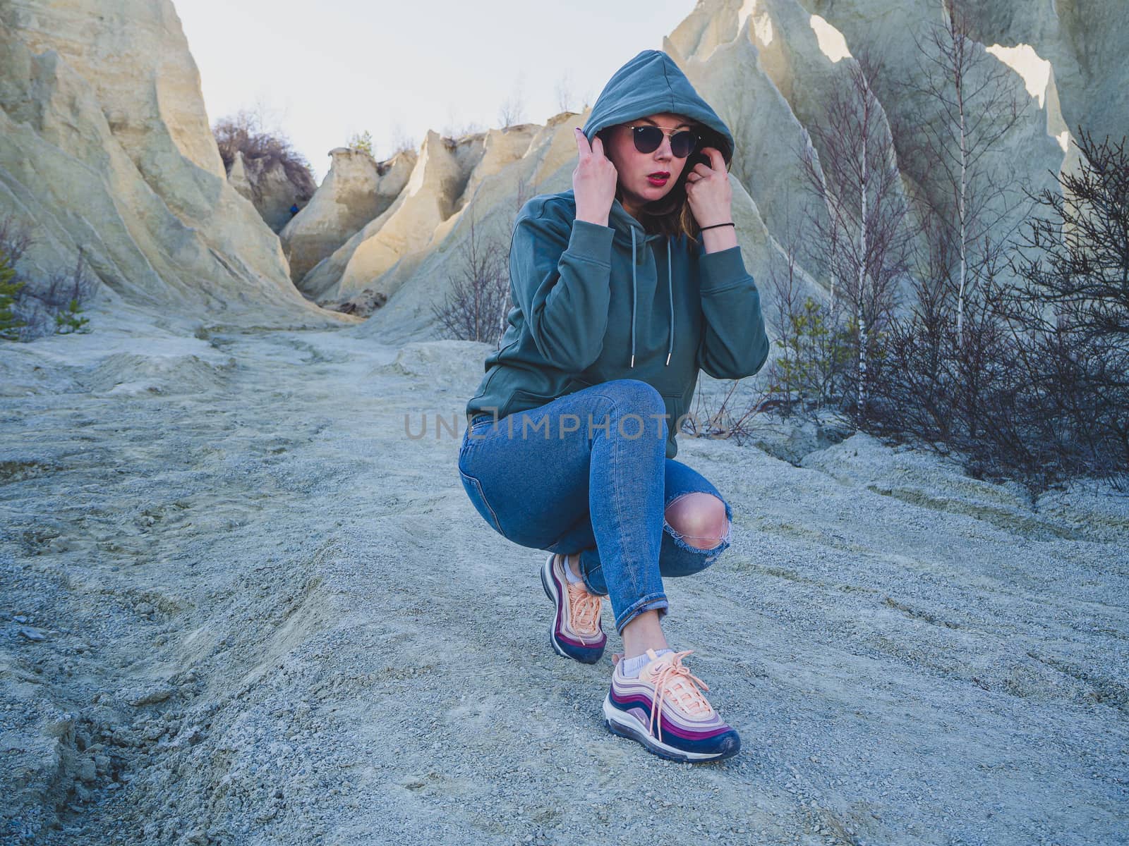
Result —
[[[715,379],[753,376],[769,355],[761,294],[745,270],[741,247],[698,257],[704,328],[698,367]]]

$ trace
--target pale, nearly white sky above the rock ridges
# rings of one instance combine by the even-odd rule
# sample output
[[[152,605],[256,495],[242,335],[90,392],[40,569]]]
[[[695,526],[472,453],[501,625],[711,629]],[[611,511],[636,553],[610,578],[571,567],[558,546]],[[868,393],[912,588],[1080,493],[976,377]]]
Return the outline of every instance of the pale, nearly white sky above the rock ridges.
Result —
[[[594,103],[609,77],[694,0],[173,0],[200,69],[208,120],[259,108],[317,182],[355,132],[376,157],[394,139],[499,126],[502,103],[544,123]]]

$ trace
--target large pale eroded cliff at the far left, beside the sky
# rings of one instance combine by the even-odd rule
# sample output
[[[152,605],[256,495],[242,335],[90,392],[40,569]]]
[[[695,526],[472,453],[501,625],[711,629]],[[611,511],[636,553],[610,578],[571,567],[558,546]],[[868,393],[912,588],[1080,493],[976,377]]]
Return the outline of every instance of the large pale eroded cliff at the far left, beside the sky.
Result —
[[[172,318],[340,323],[290,283],[277,236],[227,182],[170,0],[0,0],[0,215],[25,273],[80,247],[124,302]]]

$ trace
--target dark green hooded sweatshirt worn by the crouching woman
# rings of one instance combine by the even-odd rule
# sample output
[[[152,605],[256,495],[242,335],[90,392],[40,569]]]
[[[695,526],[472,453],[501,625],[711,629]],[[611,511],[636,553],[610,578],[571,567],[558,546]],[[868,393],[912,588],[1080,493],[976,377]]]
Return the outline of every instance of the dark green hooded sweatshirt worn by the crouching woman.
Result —
[[[658,50],[642,51],[612,76],[584,134],[590,143],[605,126],[659,112],[714,130],[729,164],[729,130]],[[674,458],[676,422],[689,413],[699,369],[741,379],[763,367],[769,341],[760,293],[741,247],[706,253],[685,236],[648,235],[619,200],[607,223],[577,220],[571,190],[522,206],[509,250],[515,305],[466,403],[467,421],[482,413],[500,420],[610,379],[640,379],[663,396],[666,457]],[[645,423],[648,432],[658,424]]]

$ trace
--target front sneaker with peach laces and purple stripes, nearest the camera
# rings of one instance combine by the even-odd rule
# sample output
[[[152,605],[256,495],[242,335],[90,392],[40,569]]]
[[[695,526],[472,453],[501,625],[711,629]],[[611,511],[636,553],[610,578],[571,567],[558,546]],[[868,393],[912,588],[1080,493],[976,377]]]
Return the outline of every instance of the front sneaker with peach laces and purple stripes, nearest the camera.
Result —
[[[741,737],[706,700],[706,682],[682,664],[693,650],[656,655],[639,678],[623,675],[615,661],[612,686],[604,697],[604,725],[613,734],[638,740],[647,751],[681,761],[714,761],[736,755]],[[616,653],[614,658],[619,658]]]

